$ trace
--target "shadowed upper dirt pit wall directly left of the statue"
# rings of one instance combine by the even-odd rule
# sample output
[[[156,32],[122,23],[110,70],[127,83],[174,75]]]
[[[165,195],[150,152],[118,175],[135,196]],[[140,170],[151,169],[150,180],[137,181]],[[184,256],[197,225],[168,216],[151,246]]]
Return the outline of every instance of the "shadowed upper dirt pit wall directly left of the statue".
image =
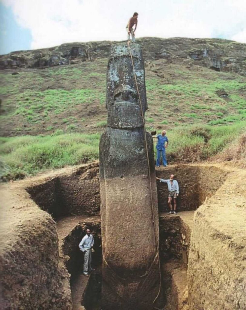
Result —
[[[28,183],[26,191],[36,204],[57,220],[69,215],[100,213],[99,163],[63,169]]]

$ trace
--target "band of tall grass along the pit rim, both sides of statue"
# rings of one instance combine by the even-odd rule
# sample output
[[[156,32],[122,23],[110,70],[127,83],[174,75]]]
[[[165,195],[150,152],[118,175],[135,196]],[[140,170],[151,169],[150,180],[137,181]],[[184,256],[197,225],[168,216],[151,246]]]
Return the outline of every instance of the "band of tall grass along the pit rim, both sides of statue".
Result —
[[[246,121],[224,126],[177,126],[167,132],[171,162],[206,160],[221,152],[245,131]],[[152,130],[148,128],[147,130]],[[86,163],[99,158],[99,134],[64,134],[0,138],[1,174],[35,175],[40,171]]]

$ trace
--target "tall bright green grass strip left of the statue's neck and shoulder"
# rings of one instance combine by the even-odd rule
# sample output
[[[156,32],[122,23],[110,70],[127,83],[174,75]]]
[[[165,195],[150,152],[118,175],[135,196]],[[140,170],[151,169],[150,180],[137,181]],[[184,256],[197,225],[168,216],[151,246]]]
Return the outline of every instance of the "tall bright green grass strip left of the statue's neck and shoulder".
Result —
[[[99,134],[63,134],[0,138],[5,175],[35,175],[47,169],[98,159]]]

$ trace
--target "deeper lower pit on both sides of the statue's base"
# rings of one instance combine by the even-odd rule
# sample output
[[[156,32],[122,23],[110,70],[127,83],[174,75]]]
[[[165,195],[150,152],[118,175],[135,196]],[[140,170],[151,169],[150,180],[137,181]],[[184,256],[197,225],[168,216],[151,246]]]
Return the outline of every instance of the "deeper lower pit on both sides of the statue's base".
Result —
[[[194,211],[180,212],[179,215],[166,215],[161,213],[160,221],[160,258],[163,277],[162,291],[158,306],[162,309],[172,304],[183,302],[183,295],[179,292],[183,290],[174,287],[186,289],[186,270],[187,253],[190,245],[190,235]],[[75,225],[72,228],[72,225]],[[89,279],[82,275],[83,256],[77,253],[77,245],[81,237],[85,234],[86,228],[90,228],[95,239],[95,252],[93,252],[93,263],[96,268]],[[67,255],[66,267],[71,274],[70,285],[72,288],[72,298],[74,309],[79,309],[83,305],[86,310],[101,309],[101,236],[100,236],[100,218],[99,217],[68,217],[61,219],[57,223],[59,236],[67,234],[60,243],[61,252]],[[68,230],[71,230],[68,232]],[[99,255],[95,253],[99,252]],[[71,268],[72,266],[72,268]],[[177,281],[175,275],[178,274]],[[182,281],[180,281],[180,279]],[[183,285],[185,283],[185,286]],[[183,286],[184,287],[183,287]],[[170,289],[172,288],[170,293]],[[176,308],[172,308],[176,309]],[[177,308],[178,309],[178,308]]]

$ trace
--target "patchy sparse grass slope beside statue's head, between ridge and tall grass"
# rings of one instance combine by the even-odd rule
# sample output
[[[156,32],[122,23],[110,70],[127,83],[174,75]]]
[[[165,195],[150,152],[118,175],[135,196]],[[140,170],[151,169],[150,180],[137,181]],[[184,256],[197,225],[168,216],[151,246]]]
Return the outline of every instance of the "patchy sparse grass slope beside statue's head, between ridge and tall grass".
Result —
[[[97,122],[107,115],[104,107],[106,67],[106,59],[96,59],[76,66],[20,70],[18,76],[3,70],[0,72],[0,92],[4,113],[0,115],[0,122],[6,129],[5,134],[44,134],[54,120],[64,131],[71,129],[68,124],[83,122],[83,126],[77,126],[79,132],[97,132],[100,127]],[[169,129],[179,121],[189,124],[217,122],[220,125],[224,123],[221,118],[230,115],[240,114],[242,118],[239,119],[246,118],[243,111],[245,77],[203,67],[187,69],[179,64],[169,64],[161,69],[161,73],[169,77],[168,83],[165,78],[146,71],[147,124],[153,127],[167,125],[165,128]],[[217,96],[216,91],[220,89],[225,89],[230,100]],[[95,111],[99,118],[94,117]],[[70,119],[71,115],[76,119]],[[68,122],[63,122],[64,118]],[[168,124],[162,123],[165,119]],[[13,123],[24,130],[17,131],[11,126]]]

